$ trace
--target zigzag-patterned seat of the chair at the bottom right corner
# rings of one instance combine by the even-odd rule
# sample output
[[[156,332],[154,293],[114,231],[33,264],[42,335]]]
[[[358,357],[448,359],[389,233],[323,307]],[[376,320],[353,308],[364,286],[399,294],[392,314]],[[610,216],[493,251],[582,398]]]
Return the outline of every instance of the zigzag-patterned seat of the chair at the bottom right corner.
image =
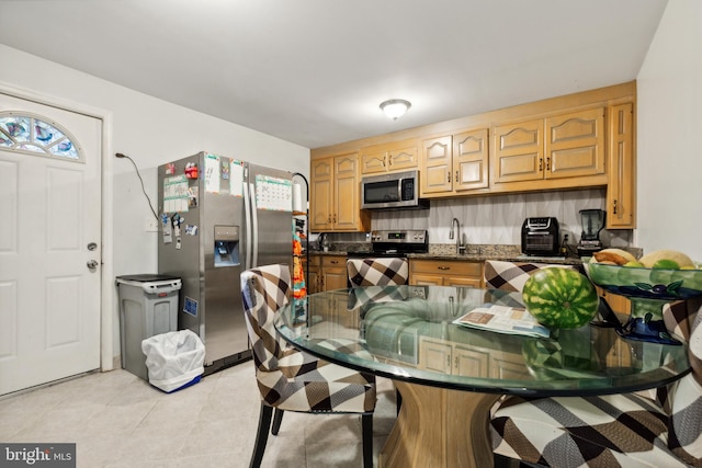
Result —
[[[546,467],[683,467],[668,449],[668,415],[637,395],[508,398],[492,416],[492,450]]]

